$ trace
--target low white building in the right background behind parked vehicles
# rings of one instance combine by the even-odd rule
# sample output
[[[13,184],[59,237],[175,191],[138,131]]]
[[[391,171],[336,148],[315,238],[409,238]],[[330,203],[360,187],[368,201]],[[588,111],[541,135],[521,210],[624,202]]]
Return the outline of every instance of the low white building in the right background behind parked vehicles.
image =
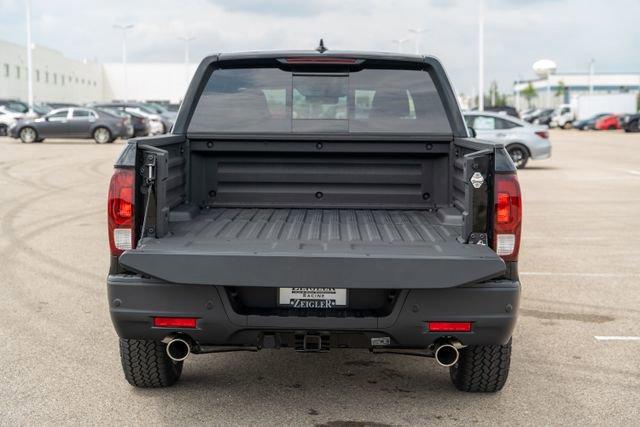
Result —
[[[523,80],[513,85],[514,104],[524,109],[529,103],[523,96],[529,84],[533,86],[536,96],[531,99],[531,107],[555,108],[560,104],[569,104],[581,95],[640,92],[640,73],[554,73],[549,79]],[[547,97],[547,87],[549,88]],[[517,105],[519,104],[519,106]]]

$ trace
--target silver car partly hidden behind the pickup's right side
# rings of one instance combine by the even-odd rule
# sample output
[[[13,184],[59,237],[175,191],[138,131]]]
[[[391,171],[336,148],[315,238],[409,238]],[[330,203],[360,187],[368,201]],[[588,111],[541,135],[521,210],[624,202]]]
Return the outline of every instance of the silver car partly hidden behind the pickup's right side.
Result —
[[[464,118],[478,138],[503,144],[518,169],[524,168],[529,159],[551,157],[547,126],[532,125],[515,117],[487,111],[468,111],[464,113]]]

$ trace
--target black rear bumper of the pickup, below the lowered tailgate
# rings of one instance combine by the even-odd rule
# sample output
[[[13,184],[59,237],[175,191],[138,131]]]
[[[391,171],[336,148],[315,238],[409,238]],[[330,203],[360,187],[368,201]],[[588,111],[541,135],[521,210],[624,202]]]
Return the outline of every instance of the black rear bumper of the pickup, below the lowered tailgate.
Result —
[[[236,313],[223,287],[181,285],[131,275],[110,275],[111,319],[121,338],[161,340],[184,332],[201,345],[261,347],[265,335],[285,343],[292,334],[322,333],[345,347],[370,347],[370,338],[390,337],[391,348],[424,349],[443,336],[465,345],[504,344],[515,327],[520,299],[517,281],[465,287],[406,290],[384,317],[258,316]],[[196,329],[154,328],[152,317],[197,317]],[[472,332],[430,333],[428,321],[471,321]],[[286,345],[286,344],[285,344]]]

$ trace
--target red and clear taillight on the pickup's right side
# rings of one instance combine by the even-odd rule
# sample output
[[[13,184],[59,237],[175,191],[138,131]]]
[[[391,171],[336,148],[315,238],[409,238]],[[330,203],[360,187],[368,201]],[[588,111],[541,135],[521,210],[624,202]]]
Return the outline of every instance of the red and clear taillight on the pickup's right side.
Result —
[[[518,176],[496,174],[493,249],[505,261],[517,261],[522,226],[522,196]]]

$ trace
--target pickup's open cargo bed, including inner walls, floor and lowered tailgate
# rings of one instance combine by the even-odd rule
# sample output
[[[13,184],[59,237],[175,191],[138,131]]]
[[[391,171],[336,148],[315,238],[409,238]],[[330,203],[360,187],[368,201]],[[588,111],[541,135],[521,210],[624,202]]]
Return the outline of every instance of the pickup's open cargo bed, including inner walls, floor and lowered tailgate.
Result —
[[[319,143],[160,147],[166,170],[147,218],[159,238],[121,263],[170,282],[254,287],[438,288],[504,272],[488,247],[467,244],[473,150]]]

